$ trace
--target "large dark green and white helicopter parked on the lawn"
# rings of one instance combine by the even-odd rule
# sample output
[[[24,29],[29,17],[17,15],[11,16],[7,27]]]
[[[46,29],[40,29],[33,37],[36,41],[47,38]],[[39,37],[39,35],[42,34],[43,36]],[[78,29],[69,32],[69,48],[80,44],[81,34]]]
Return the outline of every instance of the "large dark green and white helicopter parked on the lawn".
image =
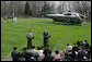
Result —
[[[64,24],[67,23],[71,25],[74,25],[74,24],[81,25],[82,20],[87,17],[85,15],[79,14],[77,12],[71,12],[71,11],[64,12],[62,14],[46,14],[46,16],[48,18],[53,18],[54,21],[53,23],[62,22]]]

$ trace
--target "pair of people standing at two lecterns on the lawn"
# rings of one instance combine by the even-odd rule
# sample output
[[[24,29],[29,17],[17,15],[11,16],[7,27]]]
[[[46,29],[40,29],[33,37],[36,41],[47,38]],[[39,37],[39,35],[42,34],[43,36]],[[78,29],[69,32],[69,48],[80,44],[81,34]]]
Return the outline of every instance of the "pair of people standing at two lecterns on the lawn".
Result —
[[[49,36],[47,29],[44,32],[43,35],[44,35],[44,47],[48,47],[49,46],[48,38],[50,38],[50,36]],[[32,46],[32,39],[34,39],[34,37],[32,35],[32,32],[28,30],[28,33],[27,33],[27,48],[32,48],[33,47]]]

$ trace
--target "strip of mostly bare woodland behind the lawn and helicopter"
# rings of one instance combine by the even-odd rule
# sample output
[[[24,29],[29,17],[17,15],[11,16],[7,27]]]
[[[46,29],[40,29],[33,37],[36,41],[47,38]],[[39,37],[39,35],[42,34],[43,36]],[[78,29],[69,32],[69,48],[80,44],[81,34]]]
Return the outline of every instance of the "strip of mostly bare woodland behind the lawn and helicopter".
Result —
[[[91,1],[1,1],[1,16],[45,17],[47,13],[73,11],[91,22]]]

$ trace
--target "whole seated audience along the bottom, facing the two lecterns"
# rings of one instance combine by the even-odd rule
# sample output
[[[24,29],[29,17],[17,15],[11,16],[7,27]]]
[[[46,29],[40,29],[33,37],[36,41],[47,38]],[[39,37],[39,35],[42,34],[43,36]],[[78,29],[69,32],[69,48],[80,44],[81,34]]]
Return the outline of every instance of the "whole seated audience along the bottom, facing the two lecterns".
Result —
[[[88,40],[77,41],[71,46],[67,44],[66,50],[55,50],[54,53],[49,47],[46,47],[44,50],[41,47],[33,46],[30,51],[27,48],[23,49],[24,51],[20,53],[18,48],[14,47],[12,51],[13,61],[91,61],[91,47],[88,44]]]

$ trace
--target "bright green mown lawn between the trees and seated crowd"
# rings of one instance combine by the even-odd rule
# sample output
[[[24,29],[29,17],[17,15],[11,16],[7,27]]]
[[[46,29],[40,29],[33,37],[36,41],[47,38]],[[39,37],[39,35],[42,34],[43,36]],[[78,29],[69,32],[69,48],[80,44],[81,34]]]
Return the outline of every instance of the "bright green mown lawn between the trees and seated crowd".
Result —
[[[53,24],[53,20],[48,18],[18,18],[16,23],[10,20],[2,23],[1,18],[1,58],[10,58],[14,46],[19,49],[27,44],[27,30],[32,30],[33,45],[43,46],[43,32],[47,28],[51,38],[49,46],[53,50],[65,49],[66,44],[73,45],[77,40],[87,39],[91,45],[91,25],[82,24],[81,26],[68,26],[61,24]]]

